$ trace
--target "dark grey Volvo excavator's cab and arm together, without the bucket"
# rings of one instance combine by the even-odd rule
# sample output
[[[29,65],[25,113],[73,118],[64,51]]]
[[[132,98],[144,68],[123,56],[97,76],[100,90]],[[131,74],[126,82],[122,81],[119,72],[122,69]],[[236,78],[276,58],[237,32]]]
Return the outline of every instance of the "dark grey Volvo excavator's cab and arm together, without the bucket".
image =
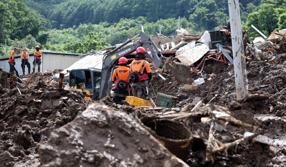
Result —
[[[127,46],[127,44],[139,36],[139,41]],[[107,95],[110,96],[110,90],[112,88],[111,72],[115,70],[116,63],[120,57],[128,56],[136,51],[138,47],[143,47],[146,50],[146,57],[149,58],[154,65],[158,68],[163,66],[166,57],[162,55],[161,51],[149,35],[144,32],[140,32],[132,39],[127,40],[122,45],[108,52],[103,58],[102,69],[89,68],[71,70],[69,78],[70,86],[74,86],[76,83],[78,84],[78,80],[80,78],[89,78],[90,76],[92,82],[90,94],[94,95],[92,100],[102,99]],[[189,67],[187,68],[189,69]],[[74,82],[75,80],[77,80],[77,82]]]

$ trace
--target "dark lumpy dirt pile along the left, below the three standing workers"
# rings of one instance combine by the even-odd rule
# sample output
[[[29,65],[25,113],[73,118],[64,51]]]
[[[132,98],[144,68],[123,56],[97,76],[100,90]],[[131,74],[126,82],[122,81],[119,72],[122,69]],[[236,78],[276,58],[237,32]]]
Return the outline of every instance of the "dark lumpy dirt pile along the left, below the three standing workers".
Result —
[[[39,162],[37,148],[50,132],[89,104],[79,91],[57,89],[51,77],[52,73],[37,73],[29,85],[22,85],[8,75],[8,88],[0,86],[0,166]]]

